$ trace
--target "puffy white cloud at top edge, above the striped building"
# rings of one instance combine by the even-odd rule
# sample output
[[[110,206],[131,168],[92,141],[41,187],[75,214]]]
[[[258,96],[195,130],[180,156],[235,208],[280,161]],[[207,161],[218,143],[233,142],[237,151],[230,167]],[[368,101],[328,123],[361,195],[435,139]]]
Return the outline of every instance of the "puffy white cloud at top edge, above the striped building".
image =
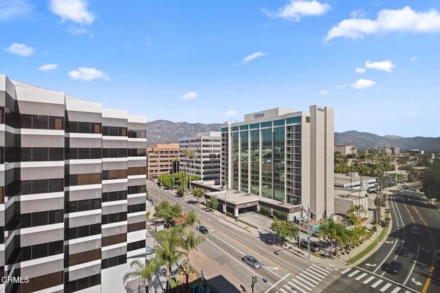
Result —
[[[61,21],[90,25],[96,19],[94,14],[87,11],[87,1],[84,0],[51,0],[50,10],[61,17]]]

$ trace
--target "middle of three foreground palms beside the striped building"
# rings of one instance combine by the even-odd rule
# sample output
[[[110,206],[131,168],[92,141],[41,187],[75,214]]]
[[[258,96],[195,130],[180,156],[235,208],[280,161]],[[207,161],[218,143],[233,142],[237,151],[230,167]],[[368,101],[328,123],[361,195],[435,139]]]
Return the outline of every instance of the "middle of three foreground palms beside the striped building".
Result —
[[[184,256],[184,252],[178,250],[181,239],[177,228],[157,232],[157,239],[160,244],[156,245],[154,250],[159,263],[166,265],[166,292],[169,292],[171,268]]]

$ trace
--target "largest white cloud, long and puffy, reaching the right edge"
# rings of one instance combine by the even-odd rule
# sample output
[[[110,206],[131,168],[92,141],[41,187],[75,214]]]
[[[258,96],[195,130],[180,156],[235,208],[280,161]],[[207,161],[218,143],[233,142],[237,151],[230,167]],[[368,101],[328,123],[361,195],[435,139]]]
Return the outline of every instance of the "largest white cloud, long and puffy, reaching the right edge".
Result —
[[[409,6],[402,9],[384,9],[377,19],[344,19],[327,32],[327,41],[344,36],[363,39],[366,34],[387,32],[440,32],[440,14],[435,9],[416,12]]]

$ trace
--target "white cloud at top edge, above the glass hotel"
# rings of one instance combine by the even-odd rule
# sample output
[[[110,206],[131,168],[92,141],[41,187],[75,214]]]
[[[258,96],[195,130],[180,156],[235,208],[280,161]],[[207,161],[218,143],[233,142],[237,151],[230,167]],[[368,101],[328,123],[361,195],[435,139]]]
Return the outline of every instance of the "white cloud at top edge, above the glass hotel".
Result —
[[[293,21],[300,21],[302,17],[310,17],[324,14],[331,7],[327,3],[320,3],[316,0],[291,0],[282,8],[278,8],[278,12],[270,12],[263,9],[262,11],[269,17],[280,17]]]

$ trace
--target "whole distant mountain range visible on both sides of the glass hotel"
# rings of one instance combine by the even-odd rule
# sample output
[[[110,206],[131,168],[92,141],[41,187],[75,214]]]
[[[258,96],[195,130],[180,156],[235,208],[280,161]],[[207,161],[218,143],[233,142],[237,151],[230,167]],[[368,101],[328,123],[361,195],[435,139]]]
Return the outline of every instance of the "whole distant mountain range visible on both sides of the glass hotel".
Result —
[[[155,120],[146,124],[146,142],[150,144],[179,142],[180,138],[195,136],[206,131],[220,131],[221,124],[202,124]],[[375,135],[368,132],[345,131],[335,133],[336,145],[354,145],[360,150],[371,147],[399,146],[401,151],[421,149],[425,152],[440,152],[440,138],[402,138],[397,135]]]

